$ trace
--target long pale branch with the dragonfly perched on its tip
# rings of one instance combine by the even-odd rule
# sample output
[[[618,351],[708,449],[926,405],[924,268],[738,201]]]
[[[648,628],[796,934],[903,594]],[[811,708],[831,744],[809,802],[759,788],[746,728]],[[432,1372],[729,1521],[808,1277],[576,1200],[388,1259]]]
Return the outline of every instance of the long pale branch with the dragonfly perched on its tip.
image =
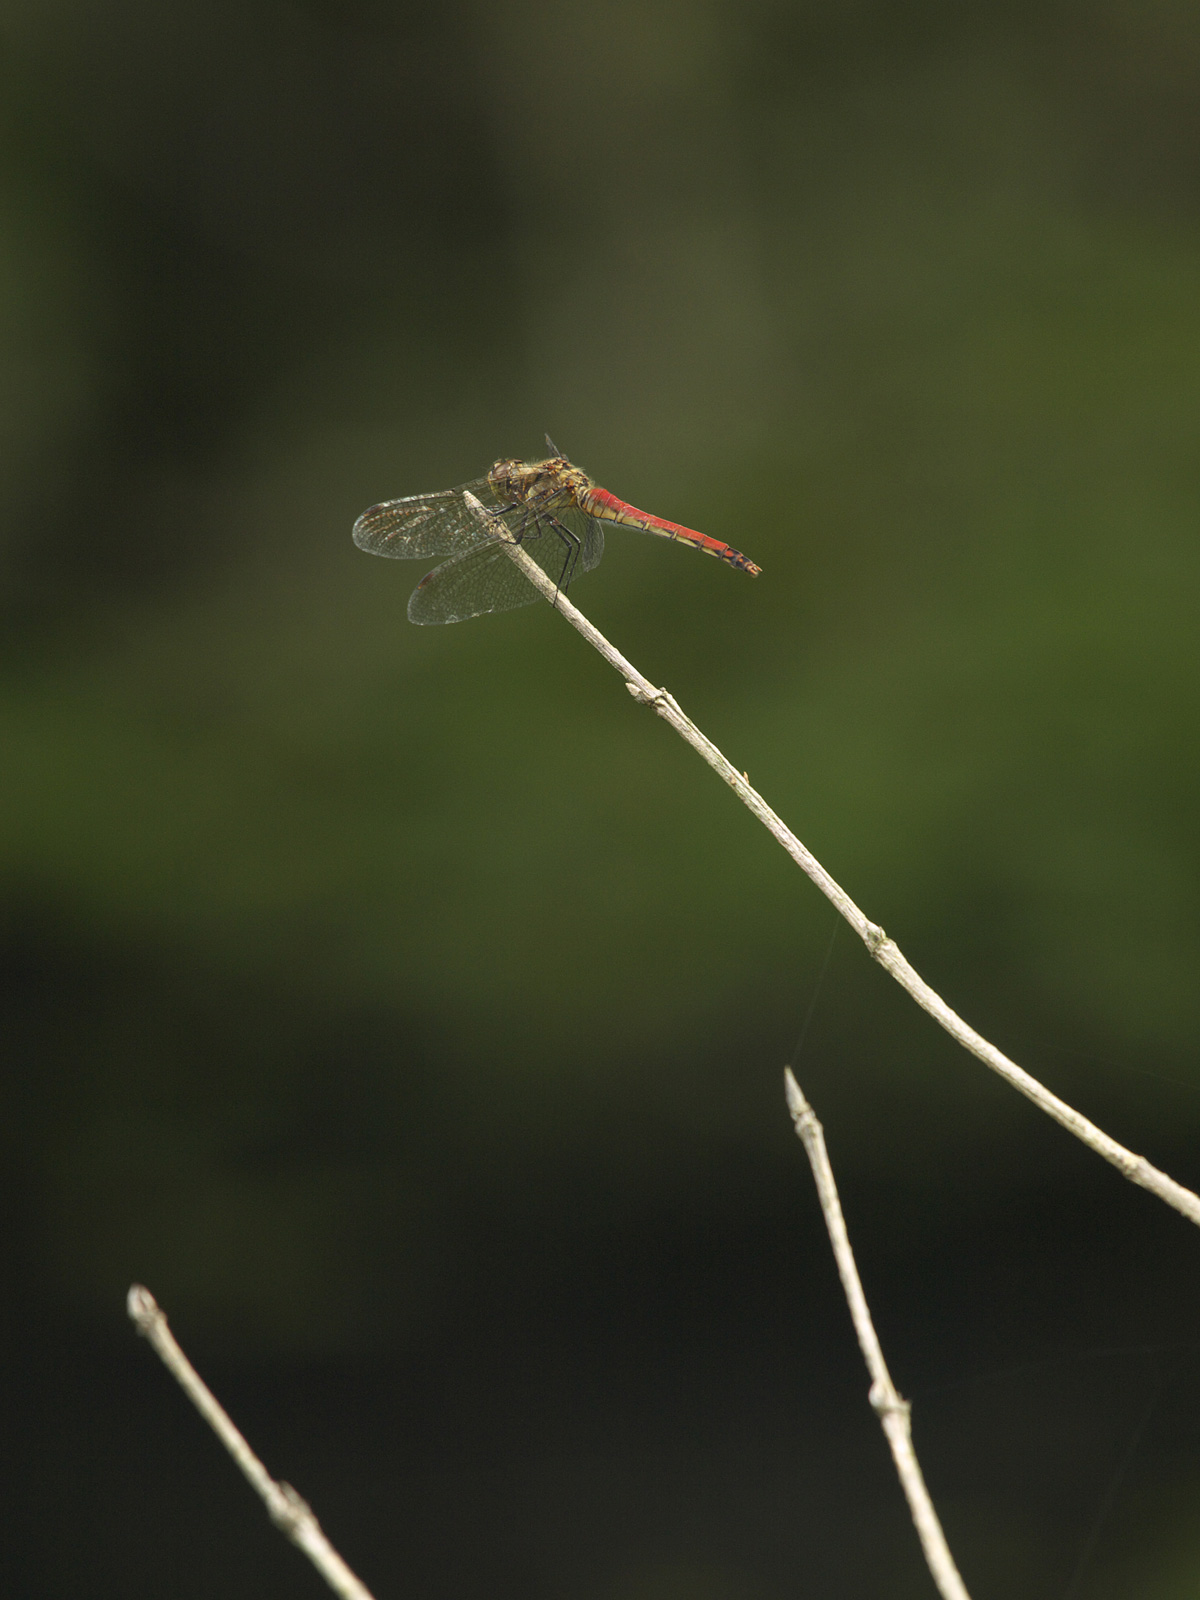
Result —
[[[1096,1155],[1102,1155],[1106,1162],[1110,1162],[1118,1173],[1130,1179],[1130,1182],[1139,1184],[1142,1189],[1149,1189],[1150,1194],[1173,1206],[1181,1216],[1186,1216],[1189,1222],[1200,1226],[1200,1195],[1192,1194],[1190,1189],[1184,1189],[1182,1184],[1168,1178],[1166,1173],[1158,1171],[1158,1168],[1152,1166],[1146,1157],[1134,1155],[1133,1150],[1126,1150],[1123,1144],[1109,1138],[1109,1134],[1104,1133],[1102,1128],[1098,1128],[1094,1122],[1090,1122],[1082,1112],[1067,1106],[1067,1102],[1061,1101],[1058,1094],[1051,1094],[1043,1083],[1038,1083],[1035,1077],[1022,1067],[1018,1067],[1018,1064],[1010,1061],[1008,1056],[995,1048],[995,1045],[990,1045],[982,1034],[976,1034],[970,1024],[963,1022],[963,1019],[946,1005],[941,995],[930,989],[925,979],[914,971],[896,942],[890,939],[880,926],[867,920],[842,885],[837,883],[826,872],[816,856],[800,843],[782,818],[776,816],[758,790],[750,786],[750,782],[738,771],[736,766],[733,766],[731,762],[725,760],[712,739],[706,738],[696,723],[680,710],[675,699],[667,694],[666,690],[658,690],[648,678],[643,678],[637,667],[626,661],[621,651],[614,650],[598,629],[592,627],[587,618],[571,605],[566,595],[555,589],[541,566],[538,566],[538,563],[531,560],[517,542],[514,542],[507,528],[491,517],[474,494],[466,494],[466,501],[475,515],[488,525],[488,530],[506,542],[507,554],[520,566],[534,589],[541,590],[541,594],[546,595],[546,598],[566,618],[571,627],[582,634],[587,643],[598,650],[605,661],[621,674],[626,680],[626,688],[634,699],[643,706],[653,706],[659,717],[670,723],[675,733],[678,733],[682,739],[686,739],[686,742],[704,757],[709,766],[725,779],[738,798],[784,846],[792,861],[795,861],[797,866],[808,874],[826,899],[837,907],[880,966],[891,973],[902,989],[907,989],[917,1005],[923,1006],[930,1016],[946,1029],[950,1038],[955,1038],[965,1050],[970,1050],[973,1056],[978,1056],[984,1066],[998,1074],[1005,1083],[1024,1094],[1026,1099],[1030,1099],[1048,1117],[1053,1117],[1054,1122],[1061,1123],[1067,1133],[1074,1133],[1077,1139],[1082,1139],[1088,1149],[1096,1152]]]

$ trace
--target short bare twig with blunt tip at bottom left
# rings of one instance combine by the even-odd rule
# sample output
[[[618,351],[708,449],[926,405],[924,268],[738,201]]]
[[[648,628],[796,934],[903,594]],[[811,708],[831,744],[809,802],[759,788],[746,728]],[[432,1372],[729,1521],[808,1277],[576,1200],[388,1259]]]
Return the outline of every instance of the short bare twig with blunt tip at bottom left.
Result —
[[[290,1483],[277,1483],[270,1477],[242,1434],[234,1427],[211,1389],[176,1344],[171,1330],[166,1326],[166,1317],[158,1309],[154,1294],[144,1290],[141,1283],[134,1283],[125,1304],[138,1333],[149,1339],[163,1366],[238,1464],[280,1533],[304,1550],[330,1589],[336,1595],[341,1595],[341,1600],[371,1600],[370,1589],[354,1576],[322,1533],[312,1509]]]

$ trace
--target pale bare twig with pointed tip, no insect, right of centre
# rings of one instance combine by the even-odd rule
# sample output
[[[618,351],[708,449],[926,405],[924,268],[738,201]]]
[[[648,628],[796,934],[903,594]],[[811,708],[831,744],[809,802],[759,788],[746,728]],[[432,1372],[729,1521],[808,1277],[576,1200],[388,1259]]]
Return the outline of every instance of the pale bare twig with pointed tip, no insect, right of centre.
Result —
[[[792,1077],[790,1067],[784,1069],[784,1090],[787,1091],[787,1109],[792,1114],[795,1131],[800,1134],[805,1154],[808,1155],[808,1165],[813,1168],[818,1198],[821,1200],[826,1227],[829,1229],[829,1243],[834,1246],[837,1272],[842,1278],[842,1288],[846,1291],[850,1318],[854,1323],[859,1349],[870,1373],[870,1405],[880,1419],[888,1446],[891,1448],[896,1475],[901,1480],[904,1498],[912,1512],[912,1525],[917,1530],[917,1538],[922,1541],[925,1563],[933,1574],[942,1600],[971,1600],[966,1594],[966,1584],[963,1584],[958,1568],[954,1565],[942,1525],[938,1520],[938,1512],[933,1509],[930,1491],[925,1486],[917,1451],[912,1448],[912,1406],[896,1394],[888,1363],[883,1360],[875,1325],[870,1320],[867,1296],[862,1293],[862,1280],[854,1264],[854,1251],[850,1248],[846,1219],[842,1214],[842,1202],[837,1197],[834,1168],[829,1165],[826,1131],[816,1120],[816,1112],[800,1093],[800,1085]]]

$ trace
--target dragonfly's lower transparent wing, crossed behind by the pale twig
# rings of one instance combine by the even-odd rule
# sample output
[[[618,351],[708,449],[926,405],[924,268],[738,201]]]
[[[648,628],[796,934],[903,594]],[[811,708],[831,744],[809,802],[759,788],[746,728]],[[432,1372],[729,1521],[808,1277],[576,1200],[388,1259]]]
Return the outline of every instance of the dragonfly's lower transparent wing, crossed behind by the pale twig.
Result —
[[[605,554],[603,528],[594,517],[568,512],[558,526],[544,517],[525,528],[514,526],[514,518],[515,514],[509,514],[502,520],[518,534],[522,549],[563,589],[579,573],[598,566]],[[504,552],[502,541],[486,539],[421,579],[408,602],[408,621],[466,622],[490,611],[515,611],[539,598],[520,566]]]

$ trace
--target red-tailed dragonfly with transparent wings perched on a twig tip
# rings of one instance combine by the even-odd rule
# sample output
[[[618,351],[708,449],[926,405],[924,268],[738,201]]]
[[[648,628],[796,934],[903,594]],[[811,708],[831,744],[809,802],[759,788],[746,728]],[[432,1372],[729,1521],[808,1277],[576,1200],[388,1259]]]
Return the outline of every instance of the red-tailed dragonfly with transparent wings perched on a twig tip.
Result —
[[[678,539],[715,555],[742,573],[762,571],[741,550],[707,533],[651,517],[602,490],[546,437],[546,461],[498,461],[485,478],[456,490],[382,501],[354,525],[354,542],[371,555],[398,560],[446,560],[426,573],[408,602],[410,622],[464,622],[490,611],[533,605],[538,590],[504,554],[515,541],[554,581],[566,589],[590,573],[605,554],[605,523]],[[470,493],[494,522],[466,502]]]

